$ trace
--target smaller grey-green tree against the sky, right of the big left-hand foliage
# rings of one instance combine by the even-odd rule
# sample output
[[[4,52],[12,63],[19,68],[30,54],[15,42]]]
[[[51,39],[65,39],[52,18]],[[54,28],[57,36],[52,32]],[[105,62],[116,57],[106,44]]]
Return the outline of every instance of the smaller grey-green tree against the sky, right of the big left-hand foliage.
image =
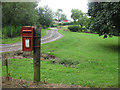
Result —
[[[48,7],[45,6],[44,8],[40,7],[38,9],[38,22],[45,28],[49,27],[53,23],[53,12]]]

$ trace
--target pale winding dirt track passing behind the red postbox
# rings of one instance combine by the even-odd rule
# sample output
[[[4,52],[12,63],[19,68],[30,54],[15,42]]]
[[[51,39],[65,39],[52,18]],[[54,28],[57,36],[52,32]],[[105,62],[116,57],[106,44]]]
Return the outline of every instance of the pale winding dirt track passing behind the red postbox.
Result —
[[[41,38],[41,44],[52,42],[62,38],[63,36],[58,32],[56,28],[51,28],[47,31],[46,36]],[[22,42],[17,42],[14,44],[0,44],[0,53],[17,51],[22,49]]]

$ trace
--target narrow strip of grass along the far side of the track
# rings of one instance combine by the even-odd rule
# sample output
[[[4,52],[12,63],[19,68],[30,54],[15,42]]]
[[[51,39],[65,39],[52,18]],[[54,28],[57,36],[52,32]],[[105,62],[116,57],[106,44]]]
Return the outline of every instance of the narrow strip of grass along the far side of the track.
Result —
[[[49,30],[49,28],[48,29],[42,29],[41,35],[45,36],[47,30]],[[16,42],[20,42],[20,41],[22,41],[22,37],[21,36],[14,37],[14,38],[3,38],[2,39],[2,44],[11,44],[11,43],[16,43]]]

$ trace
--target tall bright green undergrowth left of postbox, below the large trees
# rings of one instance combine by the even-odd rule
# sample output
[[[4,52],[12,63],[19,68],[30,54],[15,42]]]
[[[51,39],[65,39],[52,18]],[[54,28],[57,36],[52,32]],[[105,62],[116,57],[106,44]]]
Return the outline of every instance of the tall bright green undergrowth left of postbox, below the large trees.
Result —
[[[21,36],[22,34],[22,26],[6,26],[2,28],[2,37],[3,38],[12,38]]]

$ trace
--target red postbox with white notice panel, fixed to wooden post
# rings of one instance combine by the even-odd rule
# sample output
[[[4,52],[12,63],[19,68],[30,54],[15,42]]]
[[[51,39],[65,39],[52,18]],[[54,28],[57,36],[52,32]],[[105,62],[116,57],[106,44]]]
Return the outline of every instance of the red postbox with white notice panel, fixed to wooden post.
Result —
[[[23,51],[33,50],[33,27],[23,26],[22,27],[22,49]]]

